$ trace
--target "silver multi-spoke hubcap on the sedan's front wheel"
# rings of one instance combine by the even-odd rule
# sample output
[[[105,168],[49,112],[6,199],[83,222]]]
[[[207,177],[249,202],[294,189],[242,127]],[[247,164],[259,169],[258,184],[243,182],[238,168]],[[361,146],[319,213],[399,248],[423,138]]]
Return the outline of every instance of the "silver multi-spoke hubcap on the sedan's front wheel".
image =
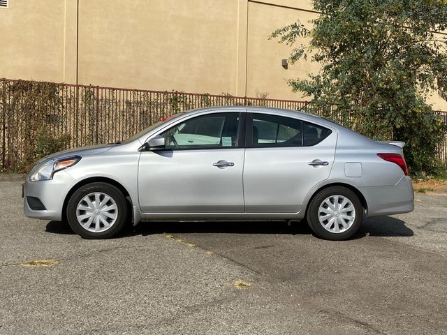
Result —
[[[118,208],[110,195],[101,192],[87,194],[76,207],[76,218],[89,232],[105,232],[114,225]]]

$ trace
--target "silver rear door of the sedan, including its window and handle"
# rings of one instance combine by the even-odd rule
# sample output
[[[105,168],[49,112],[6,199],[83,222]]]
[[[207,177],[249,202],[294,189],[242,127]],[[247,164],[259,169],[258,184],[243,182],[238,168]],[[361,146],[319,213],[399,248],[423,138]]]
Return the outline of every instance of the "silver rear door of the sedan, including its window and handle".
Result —
[[[247,113],[244,201],[247,213],[296,213],[328,179],[337,133],[277,114]]]

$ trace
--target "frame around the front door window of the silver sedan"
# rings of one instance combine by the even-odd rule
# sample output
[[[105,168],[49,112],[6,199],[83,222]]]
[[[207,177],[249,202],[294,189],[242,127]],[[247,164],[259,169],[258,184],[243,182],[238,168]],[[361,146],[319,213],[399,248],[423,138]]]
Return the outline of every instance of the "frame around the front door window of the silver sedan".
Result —
[[[195,119],[196,117],[203,117],[205,115],[212,115],[212,114],[223,114],[223,113],[234,113],[234,114],[239,114],[239,122],[237,123],[237,135],[236,135],[236,145],[235,147],[210,147],[210,148],[206,148],[206,147],[200,147],[199,145],[197,146],[197,148],[166,148],[166,149],[162,149],[162,150],[157,150],[157,151],[191,151],[191,150],[228,150],[228,149],[243,149],[244,148],[244,142],[245,142],[245,134],[242,131],[245,128],[246,125],[246,117],[247,117],[247,113],[243,112],[243,111],[228,111],[228,110],[222,110],[222,111],[212,111],[212,112],[207,112],[207,113],[203,113],[203,114],[198,114],[198,115],[193,115],[192,117],[189,117],[188,119],[182,119],[179,120],[179,122],[176,122],[173,125],[170,125],[169,127],[163,128],[161,129],[161,131],[158,131],[156,133],[154,133],[154,135],[150,136],[156,136],[156,135],[161,135],[161,133],[164,133],[165,131],[170,130],[170,128],[173,128],[175,126],[178,126],[179,124],[182,124],[183,122],[189,121],[191,119]],[[149,139],[148,139],[149,140]],[[151,150],[149,150],[151,151]]]

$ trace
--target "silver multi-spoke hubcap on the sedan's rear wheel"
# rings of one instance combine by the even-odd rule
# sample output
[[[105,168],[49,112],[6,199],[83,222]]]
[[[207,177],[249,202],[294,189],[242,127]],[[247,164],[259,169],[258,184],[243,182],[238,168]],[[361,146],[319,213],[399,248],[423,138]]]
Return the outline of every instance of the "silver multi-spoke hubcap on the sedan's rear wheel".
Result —
[[[343,195],[331,195],[321,202],[318,220],[328,232],[346,232],[356,219],[356,209],[351,200]]]

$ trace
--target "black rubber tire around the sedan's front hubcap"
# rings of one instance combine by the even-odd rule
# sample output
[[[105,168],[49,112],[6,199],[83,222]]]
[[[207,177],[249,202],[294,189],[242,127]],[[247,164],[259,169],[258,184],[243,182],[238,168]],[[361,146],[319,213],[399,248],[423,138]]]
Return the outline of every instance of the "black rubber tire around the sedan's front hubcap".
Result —
[[[80,204],[81,200],[91,193],[103,193],[103,195],[108,195],[111,200],[115,202],[117,208],[117,216],[115,221],[113,221],[113,223],[111,224],[110,228],[107,228],[101,222],[100,225],[102,226],[102,228],[100,228],[98,232],[92,232],[90,230],[87,230],[87,228],[82,226],[80,221],[78,221],[78,204]],[[108,204],[112,204],[112,202],[108,202]],[[76,234],[80,235],[80,237],[84,239],[108,239],[118,234],[126,225],[126,221],[128,218],[127,207],[128,206],[126,199],[124,198],[123,193],[119,191],[118,188],[107,183],[91,183],[81,186],[80,188],[78,188],[78,190],[75,191],[75,193],[73,193],[73,195],[71,195],[70,200],[68,200],[66,216],[71,229],[73,229]],[[83,212],[80,211],[80,213],[82,214]],[[84,213],[87,213],[87,211],[85,211]],[[109,213],[114,214],[114,211],[112,210]],[[110,219],[110,221],[112,221],[112,219]],[[85,225],[87,224],[87,221],[85,221]],[[94,222],[92,222],[90,225],[94,225]],[[89,229],[94,228],[90,226]],[[101,231],[101,229],[103,231]]]

